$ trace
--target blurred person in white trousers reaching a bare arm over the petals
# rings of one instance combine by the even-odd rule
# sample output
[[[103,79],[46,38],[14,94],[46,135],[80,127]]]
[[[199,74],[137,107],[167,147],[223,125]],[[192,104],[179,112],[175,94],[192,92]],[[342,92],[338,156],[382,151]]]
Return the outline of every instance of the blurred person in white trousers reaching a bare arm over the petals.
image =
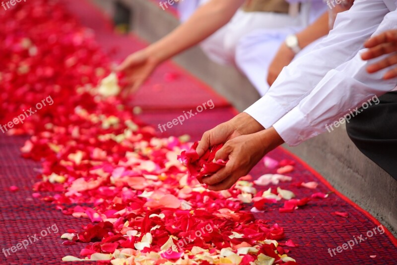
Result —
[[[187,1],[185,2],[187,4]],[[179,2],[179,5],[182,6],[185,2]],[[197,1],[193,1],[195,2]],[[281,29],[292,25],[296,30],[300,30],[321,15],[326,8],[322,0],[306,0],[300,5],[296,0],[292,4],[285,0],[202,2],[186,22],[159,41],[128,56],[116,69],[124,72],[127,82],[131,84],[124,89],[125,95],[136,91],[163,61],[203,40],[203,50],[212,60],[233,65],[235,46],[245,34],[257,28]],[[243,10],[238,10],[242,5]],[[297,9],[298,14],[292,14],[291,6],[300,6],[300,11]]]

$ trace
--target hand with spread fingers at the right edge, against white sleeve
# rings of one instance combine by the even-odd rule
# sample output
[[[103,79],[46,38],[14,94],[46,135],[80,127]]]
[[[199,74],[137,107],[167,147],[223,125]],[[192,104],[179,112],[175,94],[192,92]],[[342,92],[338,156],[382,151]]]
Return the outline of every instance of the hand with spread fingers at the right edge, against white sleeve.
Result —
[[[368,51],[361,55],[363,60],[370,60],[385,54],[391,54],[375,64],[368,66],[367,72],[372,74],[385,69],[389,66],[397,65],[397,30],[388,30],[378,36],[372,37],[364,43]],[[392,54],[393,53],[393,54]],[[397,67],[388,71],[384,79],[392,79],[397,77]]]

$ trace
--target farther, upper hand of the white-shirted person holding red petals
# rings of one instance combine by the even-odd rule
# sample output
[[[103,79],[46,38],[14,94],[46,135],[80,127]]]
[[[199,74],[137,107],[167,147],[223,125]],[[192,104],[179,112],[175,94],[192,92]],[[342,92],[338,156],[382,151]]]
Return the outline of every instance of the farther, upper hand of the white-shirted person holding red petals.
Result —
[[[223,144],[237,136],[256,133],[263,129],[264,127],[258,121],[242,112],[233,119],[206,131],[201,137],[196,152],[201,157],[211,146]]]

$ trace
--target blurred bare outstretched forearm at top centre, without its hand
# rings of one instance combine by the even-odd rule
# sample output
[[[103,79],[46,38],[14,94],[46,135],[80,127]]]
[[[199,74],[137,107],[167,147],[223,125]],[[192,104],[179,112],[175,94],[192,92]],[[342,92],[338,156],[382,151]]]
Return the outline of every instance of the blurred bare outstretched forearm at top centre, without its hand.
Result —
[[[211,0],[185,23],[147,49],[159,62],[198,44],[225,25],[244,0]]]

